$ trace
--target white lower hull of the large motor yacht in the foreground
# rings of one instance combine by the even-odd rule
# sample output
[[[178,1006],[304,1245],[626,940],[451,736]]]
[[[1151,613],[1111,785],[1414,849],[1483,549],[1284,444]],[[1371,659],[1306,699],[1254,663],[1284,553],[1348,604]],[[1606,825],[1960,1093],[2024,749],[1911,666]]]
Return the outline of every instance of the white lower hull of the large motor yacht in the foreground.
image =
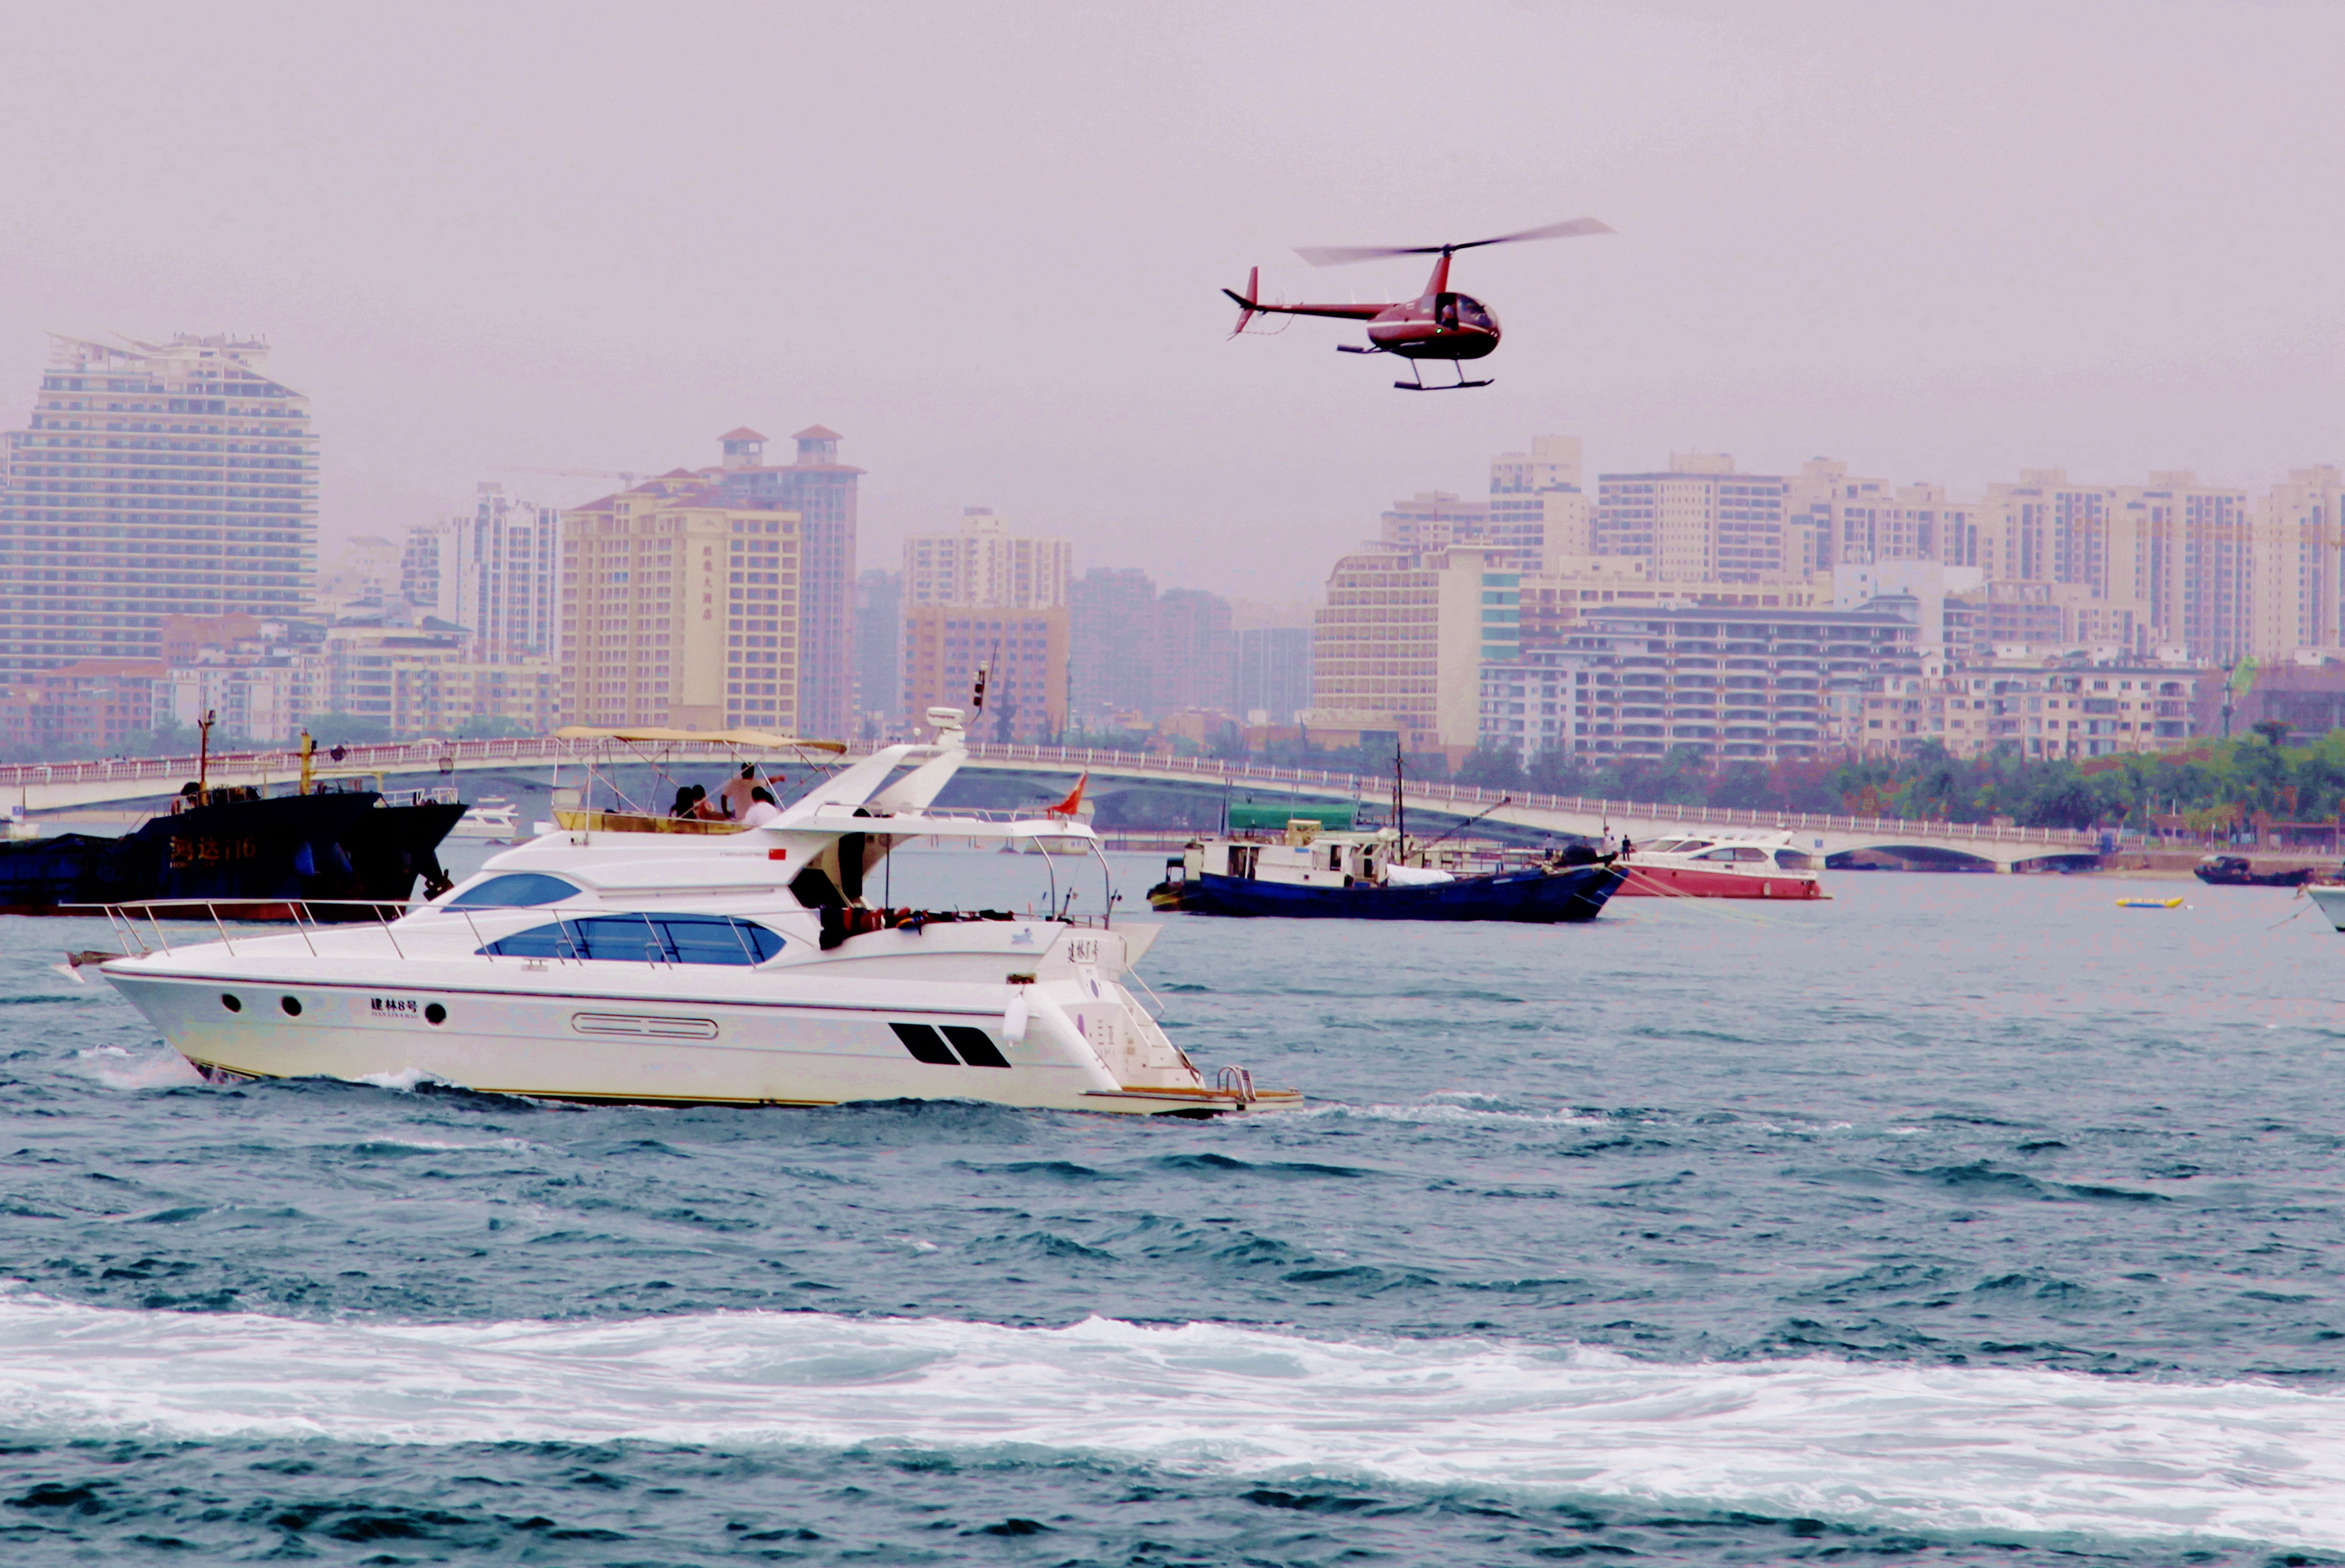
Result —
[[[211,1080],[441,1080],[492,1095],[671,1106],[985,1099],[1119,1113],[1248,1109],[1236,1095],[1114,1071],[1116,1048],[1137,1048],[1130,1036],[1144,1015],[1107,980],[1027,987],[1029,1020],[1013,1041],[1004,984],[825,977],[783,987],[750,970],[732,994],[680,998],[652,963],[499,963],[495,989],[464,973],[478,966],[415,959],[396,973],[375,966],[392,980],[347,973],[347,963],[204,968],[157,954],[110,961],[103,973]]]

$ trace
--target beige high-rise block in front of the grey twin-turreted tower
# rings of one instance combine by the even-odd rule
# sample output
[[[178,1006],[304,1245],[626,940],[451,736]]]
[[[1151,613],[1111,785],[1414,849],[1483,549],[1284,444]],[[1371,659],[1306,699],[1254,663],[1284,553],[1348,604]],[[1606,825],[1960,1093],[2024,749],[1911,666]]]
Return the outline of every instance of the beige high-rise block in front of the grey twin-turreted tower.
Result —
[[[565,722],[795,731],[797,591],[797,513],[696,476],[563,513]]]

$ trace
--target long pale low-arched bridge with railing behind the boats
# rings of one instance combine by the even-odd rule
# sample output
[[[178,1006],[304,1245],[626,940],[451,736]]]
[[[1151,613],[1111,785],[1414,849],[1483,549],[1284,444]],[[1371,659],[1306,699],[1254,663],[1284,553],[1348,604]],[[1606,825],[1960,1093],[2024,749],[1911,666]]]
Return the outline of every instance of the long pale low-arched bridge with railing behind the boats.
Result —
[[[659,755],[675,766],[708,769],[732,757],[748,757],[715,743],[661,745]],[[800,752],[774,752],[774,762],[804,762]],[[842,762],[851,762],[854,755]],[[321,773],[382,773],[389,783],[446,780],[460,773],[497,771],[546,776],[556,783],[582,783],[586,764],[624,764],[628,757],[610,743],[521,738],[521,741],[401,741],[389,745],[352,745],[340,757],[317,755]],[[195,778],[195,757],[134,757],[113,762],[19,762],[0,764],[0,806],[23,806],[38,816],[73,806],[131,804],[176,795]],[[1391,783],[1355,773],[1316,769],[1271,769],[1217,762],[1212,757],[1149,757],[1140,752],[1097,752],[1060,745],[971,745],[971,771],[1048,773],[1072,778],[1088,771],[1095,785],[1158,785],[1219,795],[1226,790],[1292,792],[1301,802],[1372,802],[1393,797]],[[211,757],[213,785],[277,785],[300,776],[300,755],[291,750],[223,752]],[[417,778],[422,776],[422,778]],[[1503,804],[1501,804],[1503,802]],[[1843,851],[1911,851],[1909,858],[1937,863],[1989,863],[1998,872],[2057,855],[2092,855],[2099,834],[2059,827],[1993,827],[1977,823],[1932,823],[1862,816],[1810,816],[1799,811],[1710,811],[1700,806],[1653,806],[1646,802],[1583,799],[1562,795],[1477,790],[1442,780],[1407,780],[1402,804],[1445,825],[1477,813],[1491,827],[1515,834],[1599,837],[1606,827],[1632,839],[1656,839],[1681,827],[1787,827],[1801,848],[1820,855]]]

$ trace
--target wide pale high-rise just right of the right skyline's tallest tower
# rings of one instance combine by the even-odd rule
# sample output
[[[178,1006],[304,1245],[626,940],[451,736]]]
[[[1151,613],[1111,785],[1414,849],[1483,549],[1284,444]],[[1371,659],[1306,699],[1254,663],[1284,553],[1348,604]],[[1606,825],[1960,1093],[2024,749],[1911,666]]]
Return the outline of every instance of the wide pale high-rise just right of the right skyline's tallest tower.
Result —
[[[1592,541],[1599,555],[1642,555],[1656,581],[1785,581],[1810,570],[1787,539],[1787,511],[1780,476],[1735,473],[1726,455],[1672,455],[1665,473],[1597,476]]]

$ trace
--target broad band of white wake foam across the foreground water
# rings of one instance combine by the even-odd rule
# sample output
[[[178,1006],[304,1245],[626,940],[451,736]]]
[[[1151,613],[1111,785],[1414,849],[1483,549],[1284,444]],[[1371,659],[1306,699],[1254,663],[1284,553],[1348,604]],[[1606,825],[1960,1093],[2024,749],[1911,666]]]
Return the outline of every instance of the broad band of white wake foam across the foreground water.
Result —
[[[1946,1533],[2345,1549],[2345,1397],[2261,1383],[1672,1366],[1109,1320],[361,1324],[14,1296],[0,1411],[59,1437],[1013,1446]]]

